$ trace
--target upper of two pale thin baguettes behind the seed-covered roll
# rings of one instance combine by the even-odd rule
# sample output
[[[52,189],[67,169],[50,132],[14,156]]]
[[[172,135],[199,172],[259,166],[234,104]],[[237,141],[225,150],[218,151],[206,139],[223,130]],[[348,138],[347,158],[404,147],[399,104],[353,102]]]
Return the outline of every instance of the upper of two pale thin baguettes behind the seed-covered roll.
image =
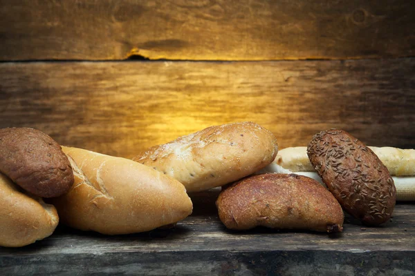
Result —
[[[373,146],[369,146],[369,148],[375,152],[391,175],[415,176],[415,150]],[[314,171],[313,165],[311,165],[308,159],[307,147],[305,146],[279,150],[273,163],[292,172]]]

